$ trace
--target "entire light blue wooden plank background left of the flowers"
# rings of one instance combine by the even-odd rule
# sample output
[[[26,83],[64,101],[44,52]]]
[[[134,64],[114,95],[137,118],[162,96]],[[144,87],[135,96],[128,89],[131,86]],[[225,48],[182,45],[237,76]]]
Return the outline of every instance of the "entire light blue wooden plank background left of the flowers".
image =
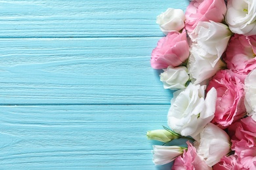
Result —
[[[150,67],[182,0],[0,1],[0,169],[164,169],[146,131],[172,97]]]

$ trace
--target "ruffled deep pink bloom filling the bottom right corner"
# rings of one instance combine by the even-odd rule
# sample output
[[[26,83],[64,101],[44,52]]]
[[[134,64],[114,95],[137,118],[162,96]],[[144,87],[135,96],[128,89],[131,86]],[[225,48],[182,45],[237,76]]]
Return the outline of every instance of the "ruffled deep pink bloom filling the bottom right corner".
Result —
[[[245,168],[256,169],[256,122],[248,116],[228,127],[232,150]]]

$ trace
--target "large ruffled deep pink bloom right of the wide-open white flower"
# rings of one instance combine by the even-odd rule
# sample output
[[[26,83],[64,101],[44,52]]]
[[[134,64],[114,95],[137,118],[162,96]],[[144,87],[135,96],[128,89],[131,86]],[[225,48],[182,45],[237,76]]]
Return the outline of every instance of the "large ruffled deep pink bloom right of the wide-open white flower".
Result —
[[[226,70],[216,73],[207,86],[207,92],[217,90],[217,102],[213,123],[221,128],[245,116],[244,84],[236,76],[232,78]]]

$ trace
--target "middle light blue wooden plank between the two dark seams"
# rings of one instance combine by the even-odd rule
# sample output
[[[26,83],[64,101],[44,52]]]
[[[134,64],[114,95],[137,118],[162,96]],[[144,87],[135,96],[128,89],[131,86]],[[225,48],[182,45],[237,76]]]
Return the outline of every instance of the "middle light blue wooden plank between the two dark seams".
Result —
[[[0,39],[0,105],[169,105],[150,67],[158,38]]]

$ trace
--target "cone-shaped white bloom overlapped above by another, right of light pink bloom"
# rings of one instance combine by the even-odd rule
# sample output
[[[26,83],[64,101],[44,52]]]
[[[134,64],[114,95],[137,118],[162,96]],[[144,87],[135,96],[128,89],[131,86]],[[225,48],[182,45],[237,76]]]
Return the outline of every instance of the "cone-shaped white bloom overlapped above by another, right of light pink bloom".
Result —
[[[188,58],[188,74],[194,84],[209,80],[213,75],[225,66],[225,63],[217,55],[208,54],[198,44],[190,46]],[[217,63],[215,60],[217,59]],[[213,66],[213,63],[215,65]]]

